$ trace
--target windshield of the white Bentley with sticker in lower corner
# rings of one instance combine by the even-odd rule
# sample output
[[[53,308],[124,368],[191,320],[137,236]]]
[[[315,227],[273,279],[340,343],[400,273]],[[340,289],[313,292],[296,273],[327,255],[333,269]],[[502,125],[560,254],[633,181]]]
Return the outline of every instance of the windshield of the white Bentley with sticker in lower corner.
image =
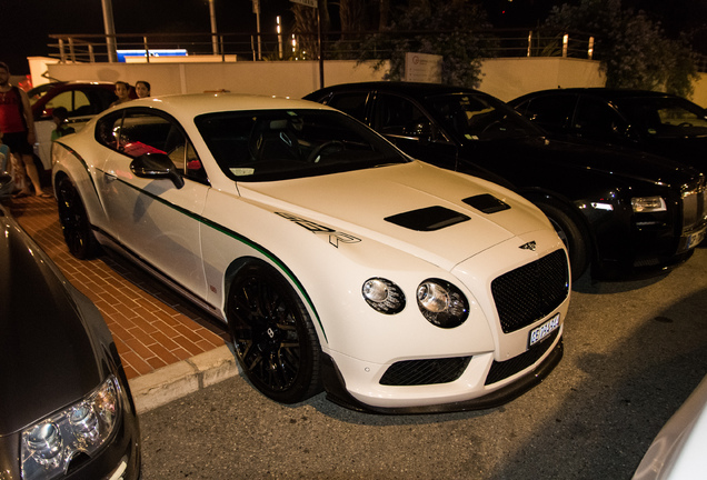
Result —
[[[221,170],[238,181],[269,181],[407,162],[368,127],[336,111],[259,110],[195,120]]]

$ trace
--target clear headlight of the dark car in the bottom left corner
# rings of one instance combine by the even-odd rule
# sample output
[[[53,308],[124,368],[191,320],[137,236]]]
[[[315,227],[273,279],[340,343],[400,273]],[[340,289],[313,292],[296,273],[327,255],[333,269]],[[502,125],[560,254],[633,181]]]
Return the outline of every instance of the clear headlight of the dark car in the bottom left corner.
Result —
[[[77,456],[90,458],[110,438],[121,408],[120,386],[110,376],[81,401],[24,429],[22,479],[52,479]]]

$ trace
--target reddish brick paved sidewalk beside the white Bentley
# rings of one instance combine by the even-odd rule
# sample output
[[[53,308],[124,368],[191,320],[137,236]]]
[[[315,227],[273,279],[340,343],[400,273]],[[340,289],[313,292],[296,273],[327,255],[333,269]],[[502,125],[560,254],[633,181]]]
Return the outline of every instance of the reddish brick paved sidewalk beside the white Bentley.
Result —
[[[88,261],[72,257],[63,241],[53,198],[13,199],[10,210],[67,279],[103,314],[128,379],[230,342],[218,321],[129,262],[106,254]]]

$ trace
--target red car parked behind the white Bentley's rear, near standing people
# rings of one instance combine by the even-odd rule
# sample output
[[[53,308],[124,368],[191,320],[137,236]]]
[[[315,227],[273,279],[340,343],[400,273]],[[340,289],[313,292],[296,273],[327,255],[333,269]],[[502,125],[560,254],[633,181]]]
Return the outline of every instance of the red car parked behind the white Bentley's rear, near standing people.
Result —
[[[79,131],[94,114],[116,101],[113,90],[111,82],[69,81],[43,83],[27,93],[37,129],[34,154],[41,160],[44,170],[51,170],[53,109],[64,107],[69,113],[67,123]]]

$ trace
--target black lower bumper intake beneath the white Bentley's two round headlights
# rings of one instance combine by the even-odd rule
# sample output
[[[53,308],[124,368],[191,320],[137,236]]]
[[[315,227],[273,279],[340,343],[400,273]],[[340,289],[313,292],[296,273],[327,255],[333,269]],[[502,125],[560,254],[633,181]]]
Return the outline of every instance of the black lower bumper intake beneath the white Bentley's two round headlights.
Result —
[[[405,360],[390,366],[380,379],[387,386],[420,386],[448,383],[461,377],[471,357]]]

